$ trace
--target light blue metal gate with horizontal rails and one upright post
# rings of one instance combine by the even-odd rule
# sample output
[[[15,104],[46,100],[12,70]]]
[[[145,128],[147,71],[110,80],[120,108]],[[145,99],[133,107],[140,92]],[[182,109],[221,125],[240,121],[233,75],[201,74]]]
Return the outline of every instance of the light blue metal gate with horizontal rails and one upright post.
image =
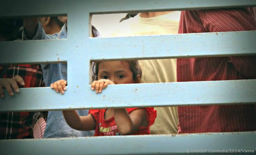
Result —
[[[67,14],[69,22],[67,39],[0,42],[1,55],[4,55],[0,57],[0,63],[67,62],[69,86],[62,96],[49,93],[50,88],[24,88],[15,97],[6,96],[0,99],[0,112],[256,103],[256,80],[129,84],[125,86],[120,84],[110,85],[107,90],[98,95],[90,90],[89,84],[91,60],[256,54],[255,31],[90,38],[91,14],[121,13],[133,10],[145,12],[255,6],[256,0],[1,1],[1,17]],[[182,42],[182,45],[179,42]],[[200,46],[202,43],[206,46]],[[57,102],[56,98],[61,98],[61,102]],[[0,141],[1,155],[14,153],[26,155],[187,154],[187,150],[190,153],[191,150],[198,150],[199,153],[205,154],[203,150],[208,150],[208,152],[209,150],[231,150],[232,153],[233,150],[239,149],[256,152],[256,133]]]

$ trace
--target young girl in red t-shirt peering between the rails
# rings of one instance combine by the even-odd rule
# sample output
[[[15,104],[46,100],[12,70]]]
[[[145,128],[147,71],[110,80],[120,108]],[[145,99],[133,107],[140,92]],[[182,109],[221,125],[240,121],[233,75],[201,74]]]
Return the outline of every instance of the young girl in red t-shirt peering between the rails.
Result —
[[[142,72],[138,61],[104,61],[93,65],[97,81],[92,90],[101,93],[108,84],[139,83]],[[57,90],[57,83],[66,90],[67,81],[60,80],[51,84]],[[58,85],[59,85],[58,84]],[[95,136],[118,136],[150,134],[149,127],[154,124],[154,108],[116,108],[90,110],[87,116],[79,116],[76,110],[63,111],[67,124],[76,130],[95,130]]]

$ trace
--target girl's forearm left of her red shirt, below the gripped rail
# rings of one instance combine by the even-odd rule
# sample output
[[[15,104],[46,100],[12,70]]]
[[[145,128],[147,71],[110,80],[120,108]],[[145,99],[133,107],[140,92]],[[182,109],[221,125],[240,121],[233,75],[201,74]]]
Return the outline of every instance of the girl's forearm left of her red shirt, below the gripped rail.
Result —
[[[95,120],[92,114],[79,116],[76,110],[62,111],[67,124],[73,129],[90,131],[95,129]]]

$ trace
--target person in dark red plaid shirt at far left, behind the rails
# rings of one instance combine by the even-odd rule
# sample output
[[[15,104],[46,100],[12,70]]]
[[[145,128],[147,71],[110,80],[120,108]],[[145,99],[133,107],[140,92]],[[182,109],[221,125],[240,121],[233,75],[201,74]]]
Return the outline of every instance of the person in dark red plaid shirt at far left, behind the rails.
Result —
[[[0,41],[21,39],[22,19],[0,19]],[[1,65],[0,100],[4,100],[3,88],[10,96],[19,93],[19,88],[43,87],[43,74],[39,64]],[[33,138],[34,112],[1,112],[0,139]]]

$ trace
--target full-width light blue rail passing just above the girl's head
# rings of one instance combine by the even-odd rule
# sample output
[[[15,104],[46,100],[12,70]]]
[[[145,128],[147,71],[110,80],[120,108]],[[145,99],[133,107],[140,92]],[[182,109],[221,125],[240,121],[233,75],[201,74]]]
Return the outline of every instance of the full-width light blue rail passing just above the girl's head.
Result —
[[[0,63],[255,55],[256,31],[0,42]],[[114,51],[114,52],[113,52]],[[108,54],[105,54],[108,53]],[[71,59],[73,58],[73,59]]]

